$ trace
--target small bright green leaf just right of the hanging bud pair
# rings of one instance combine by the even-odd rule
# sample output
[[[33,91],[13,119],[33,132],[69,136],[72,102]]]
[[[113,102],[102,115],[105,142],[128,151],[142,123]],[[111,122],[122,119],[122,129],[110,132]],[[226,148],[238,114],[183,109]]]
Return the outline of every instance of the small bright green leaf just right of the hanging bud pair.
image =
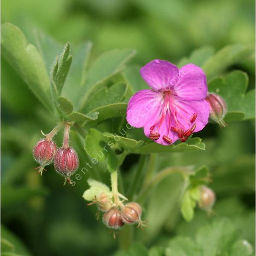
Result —
[[[108,148],[109,146],[106,137],[104,137],[100,131],[90,128],[85,138],[84,146],[87,154],[89,154],[92,158],[103,161],[108,156]]]

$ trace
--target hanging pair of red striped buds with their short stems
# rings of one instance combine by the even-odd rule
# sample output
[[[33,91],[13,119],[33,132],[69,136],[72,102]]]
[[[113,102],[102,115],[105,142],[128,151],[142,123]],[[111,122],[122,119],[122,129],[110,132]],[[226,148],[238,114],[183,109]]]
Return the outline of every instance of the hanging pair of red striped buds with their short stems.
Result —
[[[64,125],[64,139],[63,146],[57,149],[57,145],[52,140],[52,137],[60,130],[63,124],[57,125],[49,134],[45,135],[45,139],[40,140],[34,147],[33,155],[35,160],[40,164],[36,169],[38,173],[42,175],[45,166],[51,164],[54,161],[54,167],[58,173],[65,177],[65,182],[70,180],[70,176],[76,172],[79,159],[76,151],[69,147],[69,133],[70,124],[65,123]]]

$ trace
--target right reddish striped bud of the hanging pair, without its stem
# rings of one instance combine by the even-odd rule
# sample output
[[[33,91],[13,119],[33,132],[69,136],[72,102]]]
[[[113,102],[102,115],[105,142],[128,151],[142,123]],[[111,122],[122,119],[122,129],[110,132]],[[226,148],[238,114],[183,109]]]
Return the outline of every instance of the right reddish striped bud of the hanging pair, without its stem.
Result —
[[[54,167],[65,177],[70,177],[78,168],[79,160],[76,151],[71,147],[62,147],[57,150]]]

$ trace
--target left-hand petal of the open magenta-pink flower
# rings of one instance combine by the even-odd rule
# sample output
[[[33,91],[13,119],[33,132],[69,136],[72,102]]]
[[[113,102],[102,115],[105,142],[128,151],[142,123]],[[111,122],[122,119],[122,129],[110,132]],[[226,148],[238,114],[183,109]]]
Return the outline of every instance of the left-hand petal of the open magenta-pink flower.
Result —
[[[131,97],[126,111],[127,122],[137,128],[143,127],[161,108],[162,96],[152,90],[140,90]]]

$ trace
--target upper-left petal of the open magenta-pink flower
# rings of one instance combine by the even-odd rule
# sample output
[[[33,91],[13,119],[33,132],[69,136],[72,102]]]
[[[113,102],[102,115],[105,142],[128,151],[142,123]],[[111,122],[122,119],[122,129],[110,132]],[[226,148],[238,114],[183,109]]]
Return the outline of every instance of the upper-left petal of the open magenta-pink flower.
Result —
[[[179,70],[174,64],[157,59],[142,67],[140,74],[152,89],[168,90],[176,84]]]

